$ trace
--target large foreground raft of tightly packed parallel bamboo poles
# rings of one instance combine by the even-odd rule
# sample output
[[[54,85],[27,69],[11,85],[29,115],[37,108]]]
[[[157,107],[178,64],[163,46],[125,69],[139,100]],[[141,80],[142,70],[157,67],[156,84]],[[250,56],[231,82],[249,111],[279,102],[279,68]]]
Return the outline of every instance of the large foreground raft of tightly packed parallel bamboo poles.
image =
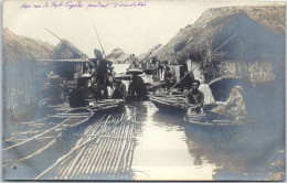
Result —
[[[75,147],[35,180],[131,179],[136,130],[135,117],[123,115],[120,119],[111,119],[108,116],[78,134]],[[50,171],[55,175],[47,175]]]

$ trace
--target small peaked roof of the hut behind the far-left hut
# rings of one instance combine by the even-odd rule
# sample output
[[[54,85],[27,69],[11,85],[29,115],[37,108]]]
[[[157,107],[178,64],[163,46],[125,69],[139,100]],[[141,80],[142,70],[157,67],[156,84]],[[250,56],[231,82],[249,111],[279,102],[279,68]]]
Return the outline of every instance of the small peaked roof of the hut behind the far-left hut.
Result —
[[[62,40],[51,54],[54,60],[83,60],[88,61],[88,56],[74,46],[70,41]]]

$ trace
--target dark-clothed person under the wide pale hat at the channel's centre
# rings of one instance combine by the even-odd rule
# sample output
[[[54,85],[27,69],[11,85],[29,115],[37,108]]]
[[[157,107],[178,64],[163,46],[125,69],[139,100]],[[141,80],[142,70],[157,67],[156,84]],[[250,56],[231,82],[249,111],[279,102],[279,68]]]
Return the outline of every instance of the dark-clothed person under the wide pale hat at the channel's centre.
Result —
[[[137,94],[139,99],[144,99],[148,94],[144,79],[140,76],[138,76],[138,74],[136,73],[132,74],[132,80],[129,84],[128,93],[131,95]]]

